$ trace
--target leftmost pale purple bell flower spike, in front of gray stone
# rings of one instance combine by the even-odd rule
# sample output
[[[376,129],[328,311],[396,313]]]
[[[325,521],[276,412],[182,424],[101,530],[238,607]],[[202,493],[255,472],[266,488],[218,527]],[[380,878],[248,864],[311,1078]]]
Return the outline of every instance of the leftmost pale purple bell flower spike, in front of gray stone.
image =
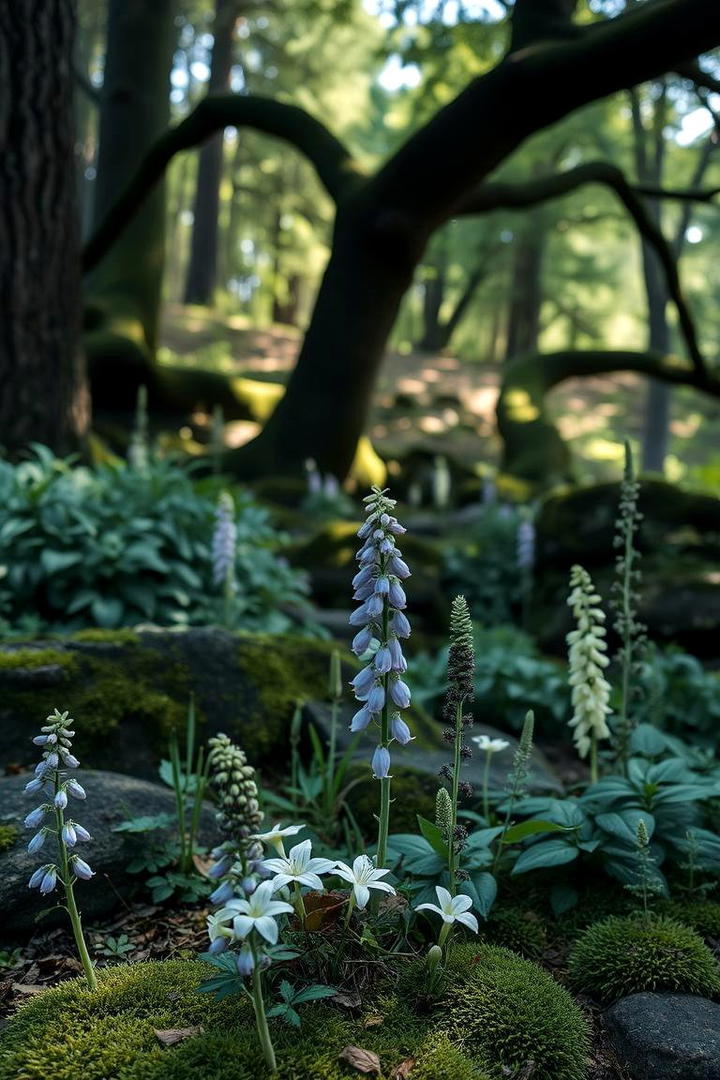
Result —
[[[25,791],[28,795],[43,795],[45,801],[31,810],[25,819],[25,827],[36,831],[27,850],[30,854],[36,854],[44,848],[49,837],[54,837],[60,863],[59,866],[56,862],[44,863],[31,875],[29,888],[39,889],[43,895],[53,892],[58,881],[66,889],[71,885],[70,879],[64,879],[66,861],[67,875],[72,875],[73,879],[86,881],[94,874],[85,860],[73,850],[79,842],[92,839],[90,833],[79,822],[65,818],[69,798],[85,798],[82,785],[66,772],[80,765],[72,753],[72,723],[67,713],[55,710],[47,717],[46,725],[40,729],[40,734],[32,740],[36,746],[42,747],[42,757],[36,766],[33,779],[25,785]]]

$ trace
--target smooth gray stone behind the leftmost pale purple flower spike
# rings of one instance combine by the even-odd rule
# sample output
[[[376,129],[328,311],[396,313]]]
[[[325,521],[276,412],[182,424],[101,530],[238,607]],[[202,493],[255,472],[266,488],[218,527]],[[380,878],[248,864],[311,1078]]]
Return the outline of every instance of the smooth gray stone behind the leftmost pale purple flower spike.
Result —
[[[78,883],[76,899],[85,926],[92,926],[94,920],[117,909],[139,880],[137,875],[128,875],[126,870],[133,838],[126,833],[113,833],[113,826],[127,818],[174,813],[175,796],[161,784],[118,772],[80,769],[74,774],[85,788],[87,798],[84,801],[71,799],[70,812],[93,837],[92,842],[78,846],[78,853],[95,870],[95,877],[90,881]],[[37,795],[25,793],[29,779],[31,773],[0,778],[0,822],[18,828],[13,846],[0,853],[0,937],[4,941],[22,940],[38,926],[44,928],[67,919],[64,912],[53,912],[41,923],[36,923],[38,914],[51,907],[55,896],[40,896],[37,889],[28,889],[27,882],[38,866],[52,861],[54,843],[47,841],[45,848],[35,855],[26,851],[32,831],[26,829],[23,821],[41,801]],[[135,842],[138,839],[141,842],[147,835],[135,834]],[[215,815],[207,806],[203,809],[201,841],[209,845],[216,839]]]

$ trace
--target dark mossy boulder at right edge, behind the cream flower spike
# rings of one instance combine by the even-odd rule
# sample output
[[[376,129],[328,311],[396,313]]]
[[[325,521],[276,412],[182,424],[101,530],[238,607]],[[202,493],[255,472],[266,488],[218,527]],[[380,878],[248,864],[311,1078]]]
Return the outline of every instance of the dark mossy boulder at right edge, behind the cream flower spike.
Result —
[[[573,563],[590,572],[606,604],[610,598],[619,498],[616,484],[597,484],[561,490],[544,501],[536,521],[531,607],[531,629],[541,645],[563,648]],[[640,617],[650,636],[718,659],[720,499],[648,478],[641,481],[639,509]]]

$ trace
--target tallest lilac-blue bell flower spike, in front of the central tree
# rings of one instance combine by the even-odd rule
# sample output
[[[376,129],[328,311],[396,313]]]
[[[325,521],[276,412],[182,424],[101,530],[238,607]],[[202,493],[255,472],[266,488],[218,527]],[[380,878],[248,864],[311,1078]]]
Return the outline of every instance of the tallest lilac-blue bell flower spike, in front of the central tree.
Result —
[[[395,543],[406,529],[393,515],[394,508],[395,500],[377,487],[365,499],[367,518],[357,532],[363,540],[356,554],[359,570],[353,578],[353,599],[359,602],[359,607],[350,617],[351,625],[358,627],[352,650],[366,662],[351,684],[362,706],[350,730],[364,731],[371,723],[380,725],[380,743],[372,755],[372,772],[379,780],[390,775],[388,744],[394,740],[404,746],[412,738],[400,716],[410,704],[410,690],[403,679],[407,661],[400,644],[410,635],[402,585],[410,570]],[[389,717],[386,731],[383,716]]]

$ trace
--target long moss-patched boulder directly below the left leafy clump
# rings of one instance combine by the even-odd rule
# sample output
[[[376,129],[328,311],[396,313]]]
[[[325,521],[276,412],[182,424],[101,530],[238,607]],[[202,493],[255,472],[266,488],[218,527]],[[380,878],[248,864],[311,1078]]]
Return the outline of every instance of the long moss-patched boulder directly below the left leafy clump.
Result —
[[[82,631],[0,645],[1,764],[32,760],[31,737],[54,707],[77,721],[79,757],[154,778],[194,694],[200,731],[226,731],[253,764],[282,769],[298,701],[327,697],[332,646],[304,638],[186,631]],[[349,659],[343,677],[356,667]]]

